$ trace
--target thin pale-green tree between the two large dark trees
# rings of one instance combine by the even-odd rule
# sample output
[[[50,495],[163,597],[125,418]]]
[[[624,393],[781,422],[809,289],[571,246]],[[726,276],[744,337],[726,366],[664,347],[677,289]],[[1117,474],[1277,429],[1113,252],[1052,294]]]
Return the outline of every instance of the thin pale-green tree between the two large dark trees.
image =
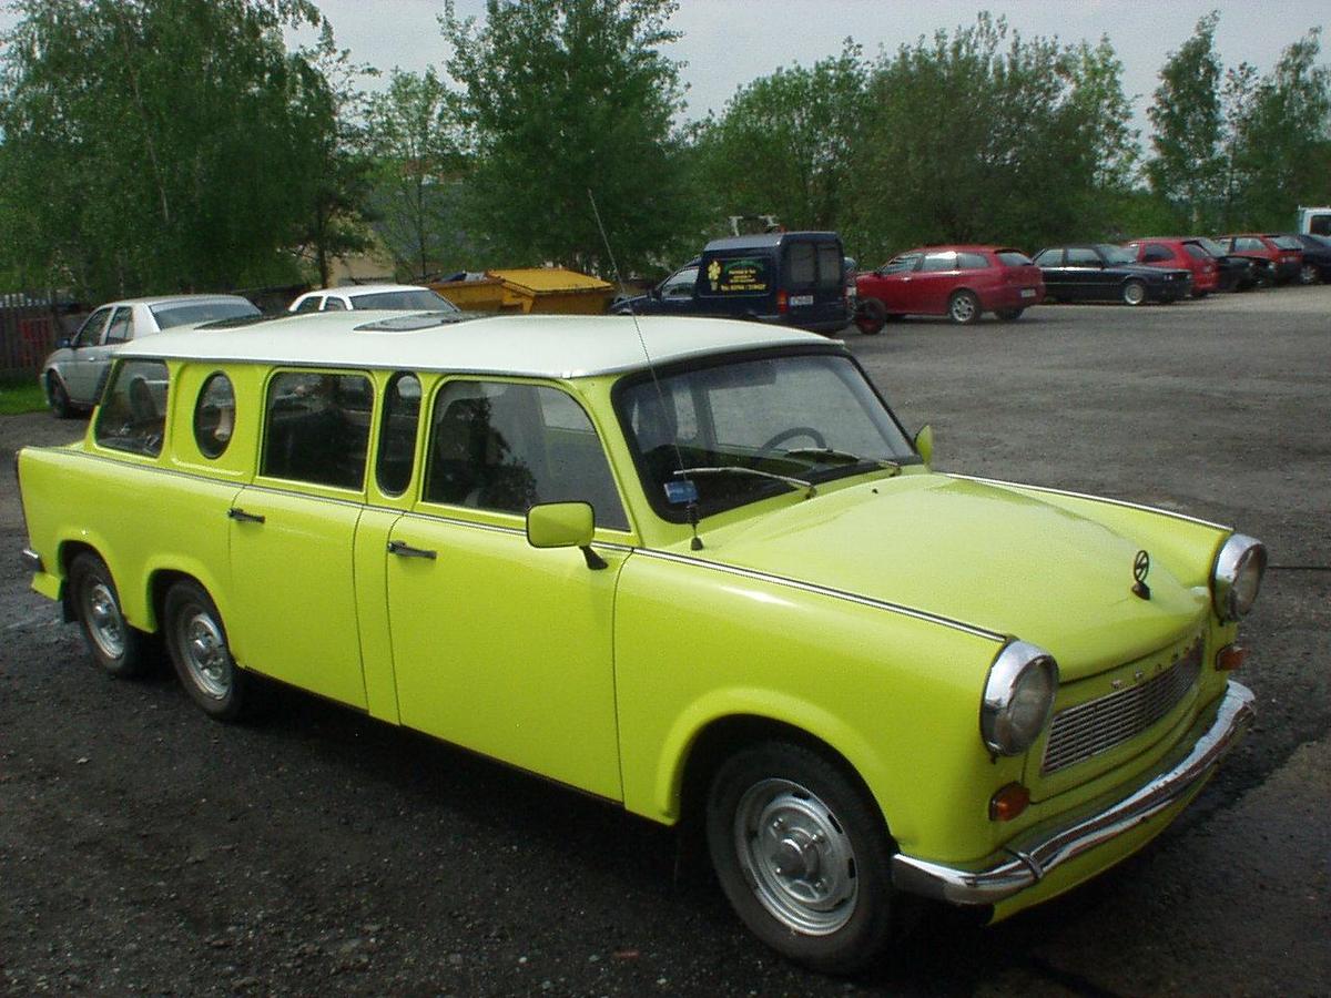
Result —
[[[377,164],[377,222],[398,266],[423,279],[465,263],[457,217],[462,136],[433,68],[393,71],[387,90],[370,97],[366,138]]]

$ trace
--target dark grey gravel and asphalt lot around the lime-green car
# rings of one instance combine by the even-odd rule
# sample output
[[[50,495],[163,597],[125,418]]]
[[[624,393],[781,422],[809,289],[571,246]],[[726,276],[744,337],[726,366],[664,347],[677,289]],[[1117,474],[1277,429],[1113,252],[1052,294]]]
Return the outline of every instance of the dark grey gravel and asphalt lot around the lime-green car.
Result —
[[[27,588],[0,418],[0,990],[149,994],[1324,994],[1331,981],[1331,287],[851,347],[948,470],[1234,523],[1256,731],[1141,856],[992,929],[925,917],[858,981],[739,926],[672,833],[276,692],[245,727],[112,681]]]

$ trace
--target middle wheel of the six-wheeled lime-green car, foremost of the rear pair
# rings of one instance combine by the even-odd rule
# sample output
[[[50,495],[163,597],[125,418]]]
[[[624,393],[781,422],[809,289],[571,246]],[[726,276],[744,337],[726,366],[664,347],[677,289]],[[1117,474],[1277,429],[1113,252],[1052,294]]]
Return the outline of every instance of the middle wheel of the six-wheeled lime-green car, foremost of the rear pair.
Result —
[[[248,677],[232,657],[222,615],[202,585],[182,579],[166,591],[162,633],[190,700],[218,721],[238,719],[245,709]]]

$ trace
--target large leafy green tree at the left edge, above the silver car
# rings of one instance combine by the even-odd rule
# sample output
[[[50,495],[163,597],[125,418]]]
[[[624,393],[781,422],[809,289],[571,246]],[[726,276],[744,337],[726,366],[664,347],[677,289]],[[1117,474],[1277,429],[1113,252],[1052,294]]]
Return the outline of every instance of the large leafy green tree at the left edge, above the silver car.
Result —
[[[295,277],[335,129],[307,0],[17,0],[0,67],[15,269],[91,298]]]

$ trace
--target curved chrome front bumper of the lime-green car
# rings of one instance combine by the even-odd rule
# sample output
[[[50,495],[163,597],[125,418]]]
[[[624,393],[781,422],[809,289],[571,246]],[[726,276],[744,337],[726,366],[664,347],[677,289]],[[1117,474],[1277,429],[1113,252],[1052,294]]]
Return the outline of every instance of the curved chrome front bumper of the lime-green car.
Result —
[[[1163,772],[1106,808],[1013,842],[1006,849],[1010,860],[965,869],[898,853],[892,861],[893,884],[898,890],[954,905],[993,905],[1020,893],[1055,866],[1131,830],[1197,789],[1251,727],[1252,700],[1252,691],[1230,683],[1210,727],[1191,749],[1166,760]]]

